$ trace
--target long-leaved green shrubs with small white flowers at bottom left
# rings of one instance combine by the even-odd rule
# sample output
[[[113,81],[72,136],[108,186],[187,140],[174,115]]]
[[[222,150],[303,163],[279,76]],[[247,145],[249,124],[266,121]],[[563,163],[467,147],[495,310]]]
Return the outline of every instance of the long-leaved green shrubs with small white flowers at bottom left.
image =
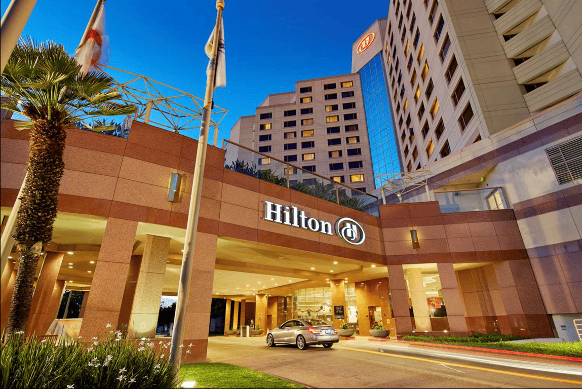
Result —
[[[132,344],[120,332],[107,340],[58,345],[10,336],[0,348],[2,388],[173,388],[169,342]],[[187,353],[190,352],[188,349]]]

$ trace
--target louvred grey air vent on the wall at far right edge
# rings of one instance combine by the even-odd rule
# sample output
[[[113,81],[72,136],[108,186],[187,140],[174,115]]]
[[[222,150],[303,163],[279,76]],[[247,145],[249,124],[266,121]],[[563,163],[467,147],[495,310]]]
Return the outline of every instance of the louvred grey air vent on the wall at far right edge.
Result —
[[[582,136],[546,148],[560,185],[582,178]]]

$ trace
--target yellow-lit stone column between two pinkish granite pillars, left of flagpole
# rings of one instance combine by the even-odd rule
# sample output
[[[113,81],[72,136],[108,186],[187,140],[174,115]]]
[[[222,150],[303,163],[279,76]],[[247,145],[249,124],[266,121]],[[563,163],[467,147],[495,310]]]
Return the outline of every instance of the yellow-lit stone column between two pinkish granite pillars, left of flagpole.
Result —
[[[147,235],[129,320],[130,338],[153,338],[158,324],[170,238]]]

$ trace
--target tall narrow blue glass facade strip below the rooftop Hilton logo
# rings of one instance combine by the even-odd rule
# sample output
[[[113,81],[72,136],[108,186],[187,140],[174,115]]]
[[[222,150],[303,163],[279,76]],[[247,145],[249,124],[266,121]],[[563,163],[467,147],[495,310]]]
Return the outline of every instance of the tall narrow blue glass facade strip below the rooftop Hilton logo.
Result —
[[[403,171],[392,125],[390,100],[382,68],[382,52],[359,70],[375,176]]]

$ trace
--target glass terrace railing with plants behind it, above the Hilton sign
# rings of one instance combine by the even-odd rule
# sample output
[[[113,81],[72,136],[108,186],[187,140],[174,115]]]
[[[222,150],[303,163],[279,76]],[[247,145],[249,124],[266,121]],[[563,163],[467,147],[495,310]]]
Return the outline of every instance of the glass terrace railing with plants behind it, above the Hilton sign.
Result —
[[[368,195],[351,186],[332,181],[230,140],[223,140],[222,148],[226,150],[225,168],[227,169],[367,214],[379,215],[378,197],[376,196]]]

